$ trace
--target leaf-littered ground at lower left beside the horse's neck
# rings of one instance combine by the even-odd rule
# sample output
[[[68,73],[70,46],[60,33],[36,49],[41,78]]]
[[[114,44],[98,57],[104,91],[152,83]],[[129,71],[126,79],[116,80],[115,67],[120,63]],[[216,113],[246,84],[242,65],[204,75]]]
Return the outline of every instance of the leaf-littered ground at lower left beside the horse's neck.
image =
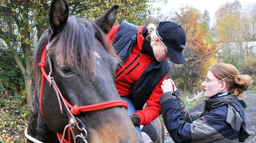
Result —
[[[24,143],[29,114],[21,95],[0,95],[0,143]]]

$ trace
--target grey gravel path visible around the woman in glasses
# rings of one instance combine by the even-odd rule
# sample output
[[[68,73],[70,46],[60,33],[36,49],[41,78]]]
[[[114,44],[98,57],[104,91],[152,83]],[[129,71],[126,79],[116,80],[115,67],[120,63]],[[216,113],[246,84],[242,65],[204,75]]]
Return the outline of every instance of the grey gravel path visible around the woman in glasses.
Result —
[[[248,137],[245,143],[256,143],[256,92],[245,93],[243,100],[247,104],[247,108],[244,109],[245,118],[247,121],[246,128],[247,130],[251,131],[251,136]],[[189,109],[189,112],[192,113],[194,111],[202,111],[203,109],[204,109],[204,102],[198,104],[192,109]],[[165,143],[174,143],[169,133],[167,132],[166,128],[165,128]]]

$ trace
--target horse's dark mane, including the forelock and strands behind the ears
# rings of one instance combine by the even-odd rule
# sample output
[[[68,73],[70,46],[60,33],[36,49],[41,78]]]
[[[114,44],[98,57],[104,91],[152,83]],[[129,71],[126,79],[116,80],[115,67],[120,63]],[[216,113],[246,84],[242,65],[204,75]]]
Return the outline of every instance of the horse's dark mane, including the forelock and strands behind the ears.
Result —
[[[41,81],[41,71],[38,63],[41,60],[41,52],[48,40],[47,34],[47,31],[43,33],[33,55],[33,79],[37,85]],[[55,48],[50,49],[54,50],[55,59],[53,60],[58,65],[68,65],[75,71],[85,70],[91,78],[95,77],[94,50],[97,42],[96,38],[110,55],[119,59],[98,25],[92,21],[71,16],[59,33],[59,38],[54,44]]]

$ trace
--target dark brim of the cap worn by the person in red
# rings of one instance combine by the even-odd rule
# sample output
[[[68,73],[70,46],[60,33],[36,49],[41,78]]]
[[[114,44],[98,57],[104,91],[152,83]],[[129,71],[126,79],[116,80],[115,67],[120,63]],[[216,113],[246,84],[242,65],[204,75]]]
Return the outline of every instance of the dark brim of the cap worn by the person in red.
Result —
[[[176,52],[175,50],[172,50],[171,48],[167,47],[167,54],[173,63],[176,63],[176,64],[186,63],[183,53]]]

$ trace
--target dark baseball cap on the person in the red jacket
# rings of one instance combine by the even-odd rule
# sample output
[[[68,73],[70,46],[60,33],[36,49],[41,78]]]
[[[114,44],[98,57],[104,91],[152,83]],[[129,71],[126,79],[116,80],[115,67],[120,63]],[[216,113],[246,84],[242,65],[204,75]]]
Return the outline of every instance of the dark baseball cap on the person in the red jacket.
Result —
[[[180,25],[171,21],[160,22],[156,28],[156,35],[167,46],[167,53],[172,62],[186,63],[182,53],[186,44],[186,33]]]

